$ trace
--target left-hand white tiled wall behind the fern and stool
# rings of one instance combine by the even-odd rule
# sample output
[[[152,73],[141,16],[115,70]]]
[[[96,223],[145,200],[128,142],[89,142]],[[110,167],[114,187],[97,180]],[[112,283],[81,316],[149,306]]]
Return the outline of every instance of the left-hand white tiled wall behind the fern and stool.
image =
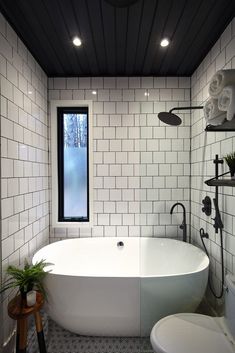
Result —
[[[22,265],[49,240],[47,77],[0,14],[1,259]],[[4,296],[4,341],[14,322]]]

